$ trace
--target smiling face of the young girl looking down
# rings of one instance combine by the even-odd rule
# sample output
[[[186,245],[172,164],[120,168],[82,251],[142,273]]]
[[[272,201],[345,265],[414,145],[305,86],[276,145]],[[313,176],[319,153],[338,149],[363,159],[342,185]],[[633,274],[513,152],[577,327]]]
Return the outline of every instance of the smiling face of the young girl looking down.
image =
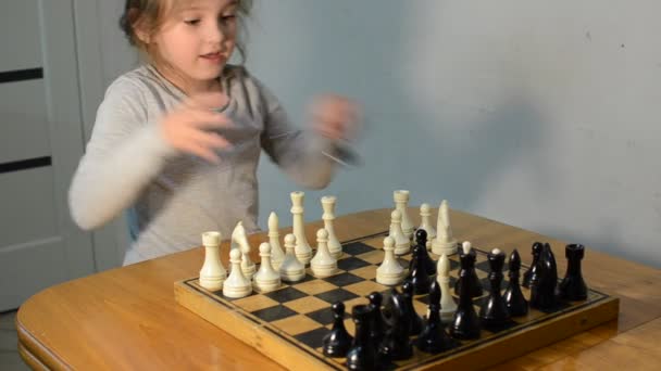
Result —
[[[210,90],[236,43],[236,0],[191,0],[169,12],[150,40],[161,74],[184,91]]]

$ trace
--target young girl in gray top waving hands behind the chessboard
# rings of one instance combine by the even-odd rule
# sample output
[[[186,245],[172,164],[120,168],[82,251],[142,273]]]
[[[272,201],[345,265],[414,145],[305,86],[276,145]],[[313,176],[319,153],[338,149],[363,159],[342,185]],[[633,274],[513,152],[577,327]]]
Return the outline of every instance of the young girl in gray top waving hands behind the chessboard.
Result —
[[[107,90],[70,189],[83,229],[128,208],[133,244],[124,264],[199,245],[200,233],[228,236],[237,221],[258,230],[257,166],[263,149],[301,187],[333,176],[334,142],[356,107],[325,97],[313,125],[295,130],[277,99],[227,61],[246,0],[127,0],[122,27],[148,63]]]

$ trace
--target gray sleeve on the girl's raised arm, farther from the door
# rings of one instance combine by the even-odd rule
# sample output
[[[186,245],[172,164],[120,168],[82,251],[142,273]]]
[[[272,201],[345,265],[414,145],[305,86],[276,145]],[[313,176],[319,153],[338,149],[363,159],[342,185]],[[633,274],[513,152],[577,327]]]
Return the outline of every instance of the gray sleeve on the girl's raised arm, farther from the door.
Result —
[[[277,98],[261,81],[257,85],[264,115],[261,144],[269,156],[301,187],[323,189],[330,180],[337,162],[333,140],[312,129],[296,129]],[[310,127],[310,126],[309,126]]]

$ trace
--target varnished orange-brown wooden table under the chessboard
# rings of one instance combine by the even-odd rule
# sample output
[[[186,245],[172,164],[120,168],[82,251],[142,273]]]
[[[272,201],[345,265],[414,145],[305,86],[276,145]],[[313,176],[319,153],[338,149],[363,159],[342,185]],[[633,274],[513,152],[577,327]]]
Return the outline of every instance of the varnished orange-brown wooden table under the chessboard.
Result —
[[[389,213],[379,209],[338,217],[336,233],[340,240],[349,240],[387,230]],[[419,222],[416,208],[410,215]],[[559,257],[559,276],[564,274],[563,241],[458,210],[451,210],[451,222],[458,239],[482,248],[510,252],[516,247],[526,265],[532,243],[549,242]],[[307,226],[310,241],[322,225]],[[250,241],[258,246],[266,235],[255,234]],[[226,264],[228,244],[222,248]],[[16,317],[23,359],[35,369],[282,369],[175,303],[173,283],[198,276],[202,261],[203,250],[198,247],[36,294]],[[620,297],[619,320],[497,369],[661,369],[661,270],[588,246],[583,271],[588,285]]]

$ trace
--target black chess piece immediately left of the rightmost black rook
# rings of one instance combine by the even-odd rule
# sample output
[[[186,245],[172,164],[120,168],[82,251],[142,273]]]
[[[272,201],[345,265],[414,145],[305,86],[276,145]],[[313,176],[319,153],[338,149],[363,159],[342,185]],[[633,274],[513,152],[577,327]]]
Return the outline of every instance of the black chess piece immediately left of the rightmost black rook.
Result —
[[[538,274],[531,279],[531,308],[552,309],[558,305],[556,287],[558,267],[551,246],[547,243],[539,255]]]

